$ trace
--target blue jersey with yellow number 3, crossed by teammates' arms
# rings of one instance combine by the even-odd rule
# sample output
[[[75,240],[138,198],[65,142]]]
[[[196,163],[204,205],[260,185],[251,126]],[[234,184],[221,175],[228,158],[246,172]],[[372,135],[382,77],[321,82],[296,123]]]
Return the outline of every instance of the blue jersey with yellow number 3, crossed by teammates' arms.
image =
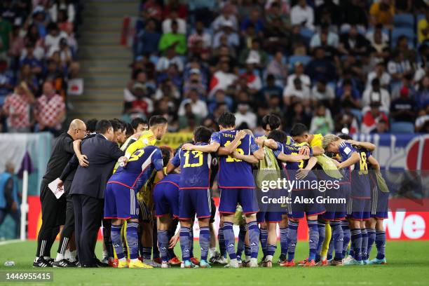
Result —
[[[297,145],[287,145],[287,144],[281,144],[277,142],[277,150],[274,150],[274,156],[275,158],[278,158],[278,156],[283,153],[285,155],[298,155],[299,149],[301,149],[301,146]],[[313,150],[310,148],[310,156],[312,156]],[[287,162],[286,164],[283,163],[283,166],[286,167],[287,175],[289,176],[290,180],[295,179],[295,173],[296,170],[304,169],[306,168],[308,164],[308,160],[301,160],[298,162]],[[308,172],[308,175],[304,178],[306,181],[317,181],[317,177],[313,172]]]

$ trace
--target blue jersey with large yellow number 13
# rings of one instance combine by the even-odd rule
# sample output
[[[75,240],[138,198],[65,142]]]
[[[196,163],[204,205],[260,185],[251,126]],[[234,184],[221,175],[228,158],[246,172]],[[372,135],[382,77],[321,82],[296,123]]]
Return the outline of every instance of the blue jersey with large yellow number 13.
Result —
[[[197,143],[196,145],[207,145]],[[180,189],[209,189],[210,188],[210,164],[212,156],[201,151],[176,152],[171,163],[180,166]]]

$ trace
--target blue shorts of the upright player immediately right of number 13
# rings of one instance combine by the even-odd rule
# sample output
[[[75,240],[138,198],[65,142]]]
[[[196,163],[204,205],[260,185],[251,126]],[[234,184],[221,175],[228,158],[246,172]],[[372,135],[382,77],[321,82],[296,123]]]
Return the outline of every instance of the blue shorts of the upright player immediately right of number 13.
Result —
[[[221,189],[219,212],[235,214],[237,204],[243,207],[244,214],[259,211],[255,189]]]

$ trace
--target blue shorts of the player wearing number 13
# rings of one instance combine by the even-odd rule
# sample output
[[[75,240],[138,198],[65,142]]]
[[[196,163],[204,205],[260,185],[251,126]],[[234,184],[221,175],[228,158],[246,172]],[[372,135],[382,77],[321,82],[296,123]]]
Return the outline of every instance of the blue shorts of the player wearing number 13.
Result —
[[[181,189],[179,192],[179,219],[212,216],[210,189]]]

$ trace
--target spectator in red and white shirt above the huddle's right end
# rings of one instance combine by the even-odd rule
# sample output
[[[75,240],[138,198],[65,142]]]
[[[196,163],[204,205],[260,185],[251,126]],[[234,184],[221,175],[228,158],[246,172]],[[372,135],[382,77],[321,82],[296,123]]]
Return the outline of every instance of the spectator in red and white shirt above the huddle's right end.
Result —
[[[369,104],[370,109],[362,117],[362,133],[386,132],[388,130],[388,116],[380,110],[381,103],[374,101]]]

